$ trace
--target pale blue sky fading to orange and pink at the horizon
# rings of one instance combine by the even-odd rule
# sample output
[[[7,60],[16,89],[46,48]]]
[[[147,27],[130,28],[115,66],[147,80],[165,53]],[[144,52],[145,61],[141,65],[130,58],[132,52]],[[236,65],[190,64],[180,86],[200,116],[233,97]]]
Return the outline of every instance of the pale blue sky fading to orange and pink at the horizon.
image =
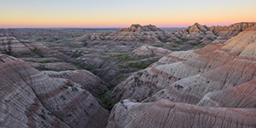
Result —
[[[256,21],[256,0],[0,0],[0,27],[159,27]]]

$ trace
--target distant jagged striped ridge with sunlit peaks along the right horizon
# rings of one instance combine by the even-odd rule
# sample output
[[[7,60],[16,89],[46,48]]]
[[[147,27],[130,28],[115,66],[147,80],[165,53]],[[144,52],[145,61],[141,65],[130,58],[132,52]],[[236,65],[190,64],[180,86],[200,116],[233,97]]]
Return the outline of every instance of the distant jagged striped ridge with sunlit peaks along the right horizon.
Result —
[[[87,33],[83,37],[76,38],[74,42],[92,41],[128,41],[146,43],[166,43],[176,41],[188,41],[188,43],[224,43],[227,39],[236,36],[239,32],[253,26],[252,22],[241,22],[230,26],[202,26],[195,23],[183,30],[163,31],[156,26],[131,25],[128,28],[121,28],[116,32]],[[189,41],[190,40],[190,41]]]

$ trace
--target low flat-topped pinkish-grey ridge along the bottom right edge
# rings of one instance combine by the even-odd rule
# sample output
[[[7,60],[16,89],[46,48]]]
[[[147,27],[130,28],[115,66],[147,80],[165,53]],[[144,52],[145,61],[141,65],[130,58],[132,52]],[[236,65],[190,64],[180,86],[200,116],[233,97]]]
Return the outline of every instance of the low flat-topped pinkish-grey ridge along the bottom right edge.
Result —
[[[108,128],[253,128],[255,119],[255,108],[206,108],[168,100],[147,103],[125,100],[114,106]]]

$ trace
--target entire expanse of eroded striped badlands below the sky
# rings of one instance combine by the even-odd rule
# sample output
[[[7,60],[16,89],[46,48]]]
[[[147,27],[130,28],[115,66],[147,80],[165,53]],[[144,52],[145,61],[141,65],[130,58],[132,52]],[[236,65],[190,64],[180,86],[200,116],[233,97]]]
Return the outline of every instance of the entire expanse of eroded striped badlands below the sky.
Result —
[[[81,32],[0,30],[0,127],[256,127],[255,23]]]

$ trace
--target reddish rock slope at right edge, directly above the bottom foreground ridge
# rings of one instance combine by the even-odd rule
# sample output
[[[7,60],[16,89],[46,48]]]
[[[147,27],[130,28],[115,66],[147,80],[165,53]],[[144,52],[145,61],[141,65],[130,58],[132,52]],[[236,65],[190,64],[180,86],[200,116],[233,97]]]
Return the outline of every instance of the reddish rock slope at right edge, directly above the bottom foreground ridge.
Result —
[[[207,93],[198,103],[205,107],[256,108],[256,79],[227,90]]]

